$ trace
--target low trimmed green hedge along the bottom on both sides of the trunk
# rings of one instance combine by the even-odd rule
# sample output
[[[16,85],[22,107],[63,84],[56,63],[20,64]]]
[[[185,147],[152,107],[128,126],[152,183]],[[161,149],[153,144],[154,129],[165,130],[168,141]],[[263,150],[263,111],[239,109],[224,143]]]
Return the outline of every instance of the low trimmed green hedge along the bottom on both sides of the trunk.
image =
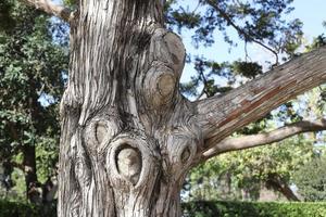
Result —
[[[183,217],[326,217],[326,203],[191,202]],[[55,217],[55,205],[35,206],[0,200],[0,217]]]

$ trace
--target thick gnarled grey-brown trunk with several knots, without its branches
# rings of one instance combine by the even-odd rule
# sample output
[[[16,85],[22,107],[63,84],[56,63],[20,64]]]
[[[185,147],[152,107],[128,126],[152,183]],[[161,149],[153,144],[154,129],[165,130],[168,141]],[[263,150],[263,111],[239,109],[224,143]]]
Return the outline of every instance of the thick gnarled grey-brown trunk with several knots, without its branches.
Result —
[[[180,39],[153,0],[83,0],[61,104],[59,216],[180,216],[202,141]]]

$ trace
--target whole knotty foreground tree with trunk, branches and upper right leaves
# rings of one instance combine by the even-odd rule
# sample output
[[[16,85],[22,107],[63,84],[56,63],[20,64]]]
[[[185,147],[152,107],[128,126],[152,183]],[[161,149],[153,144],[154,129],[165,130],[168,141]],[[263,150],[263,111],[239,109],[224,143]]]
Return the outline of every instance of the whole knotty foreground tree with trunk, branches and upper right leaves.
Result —
[[[324,119],[299,122],[228,138],[323,84],[325,48],[223,95],[204,89],[211,98],[191,103],[177,90],[186,54],[180,39],[164,28],[164,18],[186,26],[191,21],[189,27],[198,28],[195,41],[205,46],[215,28],[226,34],[231,26],[246,42],[274,53],[276,65],[278,52],[293,50],[300,35],[298,21],[280,18],[291,1],[200,1],[208,9],[203,15],[180,11],[179,17],[173,9],[163,14],[164,1],[80,0],[72,13],[50,1],[27,2],[71,25],[70,81],[61,104],[59,216],[178,216],[185,176],[200,162],[325,128]],[[227,35],[225,39],[233,42]],[[213,84],[208,87],[214,82],[201,68],[235,77],[220,64],[198,62],[201,81]],[[241,61],[233,67],[253,68],[251,78],[262,74],[255,63]]]

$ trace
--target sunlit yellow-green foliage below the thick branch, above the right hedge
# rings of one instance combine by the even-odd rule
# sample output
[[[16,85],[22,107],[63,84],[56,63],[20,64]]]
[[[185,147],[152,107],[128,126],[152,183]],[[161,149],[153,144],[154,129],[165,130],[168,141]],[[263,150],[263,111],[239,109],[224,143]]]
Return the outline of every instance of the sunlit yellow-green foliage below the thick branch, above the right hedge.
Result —
[[[268,131],[279,127],[275,126],[276,123],[325,117],[324,93],[325,86],[315,88],[280,106],[268,118],[242,128],[235,137]],[[262,188],[275,190],[275,181],[288,187],[296,184],[296,170],[316,155],[325,155],[323,143],[325,133],[308,133],[273,145],[216,156],[190,171],[184,188],[184,200],[258,200]]]

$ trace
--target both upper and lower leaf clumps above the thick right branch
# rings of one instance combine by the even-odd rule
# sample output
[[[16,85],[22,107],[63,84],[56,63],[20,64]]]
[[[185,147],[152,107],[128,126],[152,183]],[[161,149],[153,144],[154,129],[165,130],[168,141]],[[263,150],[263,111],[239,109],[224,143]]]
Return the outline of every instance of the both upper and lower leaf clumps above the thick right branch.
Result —
[[[213,2],[215,7],[211,7]],[[209,98],[231,90],[237,84],[252,79],[262,74],[262,66],[250,61],[247,43],[268,47],[284,59],[296,55],[302,44],[302,23],[299,20],[285,21],[290,13],[292,0],[279,1],[198,1],[192,7],[184,0],[170,0],[166,3],[166,23],[179,34],[192,35],[195,48],[210,47],[215,36],[224,36],[230,49],[237,46],[235,40],[246,43],[244,60],[233,63],[217,63],[204,56],[191,56],[188,63],[193,65],[196,75],[180,86],[181,91],[191,99]],[[236,31],[239,37],[230,33]],[[217,34],[218,31],[218,34]],[[218,53],[218,47],[216,50]],[[217,66],[217,67],[216,67]]]

